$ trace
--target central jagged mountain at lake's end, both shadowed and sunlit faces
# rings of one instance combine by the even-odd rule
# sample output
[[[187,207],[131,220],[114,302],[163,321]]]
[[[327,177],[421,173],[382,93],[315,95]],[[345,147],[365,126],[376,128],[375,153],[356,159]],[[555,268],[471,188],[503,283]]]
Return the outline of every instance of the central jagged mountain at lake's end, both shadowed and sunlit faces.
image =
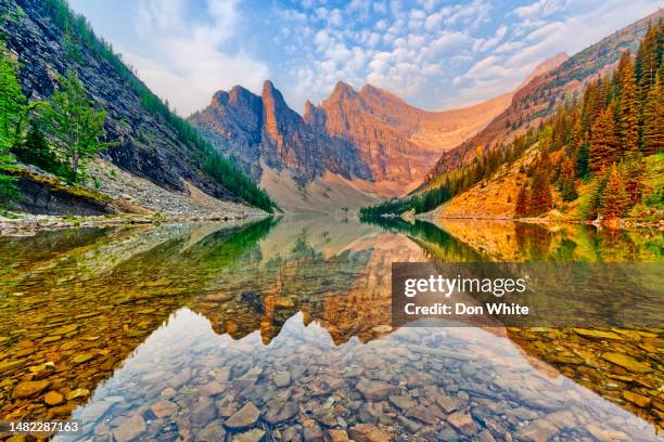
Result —
[[[239,86],[215,93],[190,121],[256,181],[267,167],[291,174],[303,190],[316,180],[323,183],[315,187],[332,188],[330,172],[359,193],[394,196],[419,183],[442,152],[475,133],[510,98],[425,112],[382,89],[368,84],[357,92],[340,82],[320,105],[307,102],[299,116],[266,81],[260,96]]]

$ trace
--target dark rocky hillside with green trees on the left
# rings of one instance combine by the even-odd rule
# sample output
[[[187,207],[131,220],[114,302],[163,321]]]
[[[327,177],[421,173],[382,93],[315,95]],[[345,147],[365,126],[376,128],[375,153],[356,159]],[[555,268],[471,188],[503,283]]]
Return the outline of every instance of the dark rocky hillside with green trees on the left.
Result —
[[[20,198],[15,161],[85,186],[86,168],[101,153],[170,192],[188,194],[189,182],[272,211],[267,194],[150,91],[66,1],[2,2],[0,39],[3,205]]]

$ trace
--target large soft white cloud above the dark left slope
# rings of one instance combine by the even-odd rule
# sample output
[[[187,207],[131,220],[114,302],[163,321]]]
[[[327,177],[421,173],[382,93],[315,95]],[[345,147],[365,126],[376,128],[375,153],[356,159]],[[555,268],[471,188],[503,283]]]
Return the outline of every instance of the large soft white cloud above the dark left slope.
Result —
[[[180,115],[201,109],[219,89],[243,84],[260,90],[268,77],[266,64],[219,47],[235,37],[240,0],[207,0],[208,23],[186,16],[183,0],[142,0],[135,28],[149,44],[144,52],[123,51],[140,77]],[[150,51],[145,51],[149,48]]]

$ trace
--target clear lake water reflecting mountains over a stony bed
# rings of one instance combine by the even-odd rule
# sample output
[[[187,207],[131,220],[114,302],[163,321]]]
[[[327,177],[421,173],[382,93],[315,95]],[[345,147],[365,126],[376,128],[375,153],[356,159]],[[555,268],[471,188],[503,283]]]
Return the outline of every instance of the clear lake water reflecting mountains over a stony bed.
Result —
[[[390,272],[432,259],[661,261],[661,233],[388,223],[0,239],[2,418],[82,418],[85,434],[71,439],[99,440],[297,440],[354,427],[356,439],[656,438],[659,330],[609,341],[569,329],[393,330]],[[648,369],[602,360],[609,350]]]

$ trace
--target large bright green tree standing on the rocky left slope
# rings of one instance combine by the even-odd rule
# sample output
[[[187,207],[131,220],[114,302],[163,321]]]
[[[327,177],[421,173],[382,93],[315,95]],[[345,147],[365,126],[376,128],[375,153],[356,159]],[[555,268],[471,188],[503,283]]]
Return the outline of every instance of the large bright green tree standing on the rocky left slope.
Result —
[[[60,89],[51,98],[46,121],[78,179],[85,176],[86,162],[114,143],[100,141],[106,113],[94,108],[76,73],[69,70],[59,81]]]

